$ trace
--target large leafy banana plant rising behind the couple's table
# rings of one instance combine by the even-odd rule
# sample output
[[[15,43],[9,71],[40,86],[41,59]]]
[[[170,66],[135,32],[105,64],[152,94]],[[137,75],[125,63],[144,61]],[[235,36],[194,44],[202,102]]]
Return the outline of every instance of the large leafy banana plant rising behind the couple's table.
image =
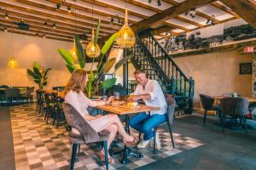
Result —
[[[98,40],[100,26],[101,26],[101,20],[98,21],[96,26],[96,35],[94,39],[95,43],[97,43],[97,40]],[[104,64],[102,63],[102,59],[108,53],[108,50],[110,50],[110,48],[112,47],[116,37],[117,37],[117,32],[113,33],[113,35],[108,38],[108,41],[104,43],[101,49],[101,55],[99,56],[100,61],[98,62],[96,71],[92,70],[92,66],[94,64],[95,58],[91,63],[89,79],[84,89],[85,94],[87,94],[89,98],[92,97],[94,94],[97,94],[102,88],[104,89],[111,88],[117,80],[115,77],[113,77],[113,78],[108,78],[108,80],[102,81],[103,75],[106,73],[109,73],[109,71],[113,68],[113,65],[116,61],[116,59],[108,59],[107,62],[105,62]],[[86,64],[86,54],[84,53],[85,50],[79,40],[79,36],[75,35],[74,39],[75,39],[75,45],[78,51],[77,56],[79,60],[79,68],[84,69],[84,65]],[[67,49],[58,48],[58,52],[59,54],[61,54],[62,59],[64,59],[68,71],[72,73],[76,68],[78,68],[78,66],[74,62],[72,54],[70,54]],[[125,59],[120,60],[115,65],[114,67],[115,70],[112,72],[112,74],[122,65],[122,63],[123,64],[125,63],[124,60],[127,61],[130,58],[126,57]]]

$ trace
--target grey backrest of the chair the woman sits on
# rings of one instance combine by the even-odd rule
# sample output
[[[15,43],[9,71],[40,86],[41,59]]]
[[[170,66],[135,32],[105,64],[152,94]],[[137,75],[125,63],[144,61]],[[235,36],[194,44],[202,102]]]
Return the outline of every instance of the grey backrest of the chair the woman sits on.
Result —
[[[84,120],[84,118],[73,108],[72,105],[67,102],[62,104],[63,111],[66,117],[67,124],[79,130],[83,135],[85,143],[92,143],[99,141],[99,135],[96,133],[90,124]]]

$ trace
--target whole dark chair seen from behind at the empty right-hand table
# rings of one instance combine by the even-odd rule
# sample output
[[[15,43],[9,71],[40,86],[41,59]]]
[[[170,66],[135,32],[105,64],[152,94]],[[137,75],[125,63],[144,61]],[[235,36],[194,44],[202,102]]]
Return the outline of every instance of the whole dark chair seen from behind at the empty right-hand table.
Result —
[[[225,128],[225,121],[227,116],[231,116],[231,122],[233,119],[239,118],[240,126],[243,127],[247,133],[246,115],[248,113],[249,101],[240,97],[227,97],[220,99],[220,107],[223,114],[223,132]],[[248,134],[248,133],[247,133]]]

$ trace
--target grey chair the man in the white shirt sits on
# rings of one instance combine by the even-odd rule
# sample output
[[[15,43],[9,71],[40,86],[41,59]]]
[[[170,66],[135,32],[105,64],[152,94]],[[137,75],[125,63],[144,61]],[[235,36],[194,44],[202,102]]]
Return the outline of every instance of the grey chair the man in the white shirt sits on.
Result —
[[[174,113],[175,113],[175,107],[176,107],[176,101],[173,98],[166,98],[166,103],[167,103],[167,114],[166,114],[166,122],[169,128],[169,133],[171,135],[171,139],[172,139],[172,148],[175,148],[175,144],[174,144],[174,140],[173,140],[173,135],[172,135],[172,122],[173,122],[173,117],[174,117]],[[160,125],[159,125],[160,126]],[[155,133],[157,132],[157,127],[154,127],[154,151],[153,153],[155,154]],[[139,140],[141,139],[141,135],[142,133],[139,133]]]

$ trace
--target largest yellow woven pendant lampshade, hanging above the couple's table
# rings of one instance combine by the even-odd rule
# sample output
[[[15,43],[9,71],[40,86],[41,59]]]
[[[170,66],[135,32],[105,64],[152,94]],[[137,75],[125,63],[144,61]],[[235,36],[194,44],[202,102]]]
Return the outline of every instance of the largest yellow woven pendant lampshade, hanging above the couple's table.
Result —
[[[127,8],[125,8],[125,24],[118,32],[116,43],[120,48],[131,48],[134,46],[135,40],[135,35],[128,25],[128,11]]]

